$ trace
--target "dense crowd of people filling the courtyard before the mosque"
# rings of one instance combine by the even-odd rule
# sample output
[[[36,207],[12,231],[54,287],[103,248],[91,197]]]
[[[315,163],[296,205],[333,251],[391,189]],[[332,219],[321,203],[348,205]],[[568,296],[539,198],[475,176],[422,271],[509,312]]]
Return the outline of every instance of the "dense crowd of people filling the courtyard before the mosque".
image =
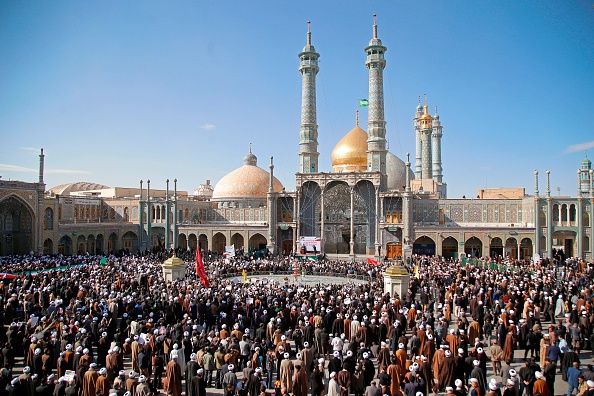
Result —
[[[168,256],[1,257],[0,396],[551,396],[559,374],[594,395],[582,260],[415,257],[399,296],[387,262],[205,252],[205,288],[193,252],[166,282]],[[347,281],[250,279],[295,268]]]

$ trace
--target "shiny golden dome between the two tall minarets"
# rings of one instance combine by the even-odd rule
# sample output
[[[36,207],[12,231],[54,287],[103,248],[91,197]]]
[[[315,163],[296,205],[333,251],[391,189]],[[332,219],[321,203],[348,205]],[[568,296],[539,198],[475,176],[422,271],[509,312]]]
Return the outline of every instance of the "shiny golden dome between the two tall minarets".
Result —
[[[334,172],[365,172],[367,170],[367,132],[357,124],[332,150]]]

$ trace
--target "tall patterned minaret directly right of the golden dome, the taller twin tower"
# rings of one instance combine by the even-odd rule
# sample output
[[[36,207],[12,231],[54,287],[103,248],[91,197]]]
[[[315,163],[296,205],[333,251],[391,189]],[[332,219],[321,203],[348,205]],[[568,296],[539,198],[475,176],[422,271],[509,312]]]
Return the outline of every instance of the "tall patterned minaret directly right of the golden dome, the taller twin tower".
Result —
[[[387,48],[377,38],[377,19],[373,15],[373,38],[365,48],[369,69],[369,113],[367,121],[367,170],[386,174],[386,120],[384,119],[384,53]]]

